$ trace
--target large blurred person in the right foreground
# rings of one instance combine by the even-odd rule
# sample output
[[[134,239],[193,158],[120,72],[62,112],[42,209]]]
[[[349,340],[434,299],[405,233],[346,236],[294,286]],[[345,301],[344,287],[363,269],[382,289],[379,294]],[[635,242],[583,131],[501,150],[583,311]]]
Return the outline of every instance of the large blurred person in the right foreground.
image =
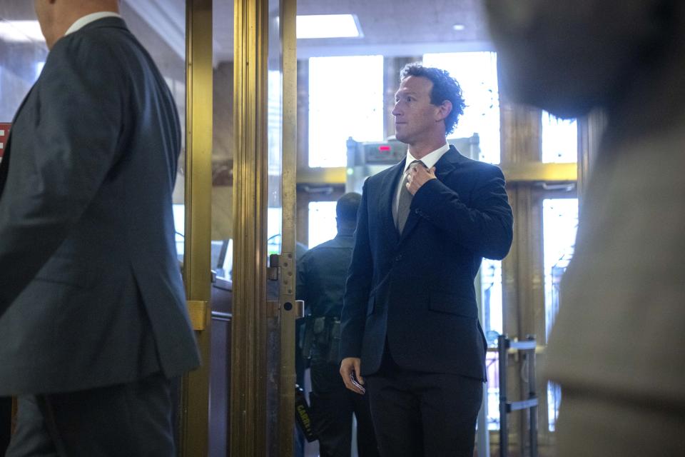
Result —
[[[685,3],[487,0],[503,84],[608,118],[546,373],[559,457],[685,455]]]

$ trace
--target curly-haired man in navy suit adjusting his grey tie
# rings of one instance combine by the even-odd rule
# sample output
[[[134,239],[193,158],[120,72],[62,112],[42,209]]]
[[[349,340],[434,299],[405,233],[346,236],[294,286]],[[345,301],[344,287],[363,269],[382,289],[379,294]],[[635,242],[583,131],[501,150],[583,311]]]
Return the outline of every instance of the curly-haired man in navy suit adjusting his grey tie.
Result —
[[[364,184],[340,374],[365,384],[382,456],[471,457],[486,350],[474,278],[482,257],[507,255],[512,210],[499,168],[447,146],[465,106],[457,81],[420,64],[400,81],[407,159]]]

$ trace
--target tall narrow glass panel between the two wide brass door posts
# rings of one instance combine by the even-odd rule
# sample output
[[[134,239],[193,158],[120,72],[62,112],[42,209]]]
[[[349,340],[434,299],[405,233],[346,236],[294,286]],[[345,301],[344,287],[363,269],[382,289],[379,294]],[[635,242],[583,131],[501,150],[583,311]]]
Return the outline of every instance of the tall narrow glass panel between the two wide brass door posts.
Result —
[[[230,448],[233,330],[233,0],[212,1],[212,186],[209,457]]]

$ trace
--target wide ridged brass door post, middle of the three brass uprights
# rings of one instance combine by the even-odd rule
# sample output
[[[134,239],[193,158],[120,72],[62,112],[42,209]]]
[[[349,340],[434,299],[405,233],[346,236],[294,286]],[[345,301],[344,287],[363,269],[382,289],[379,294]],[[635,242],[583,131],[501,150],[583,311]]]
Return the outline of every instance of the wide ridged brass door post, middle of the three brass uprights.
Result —
[[[268,0],[235,0],[230,455],[266,456]]]

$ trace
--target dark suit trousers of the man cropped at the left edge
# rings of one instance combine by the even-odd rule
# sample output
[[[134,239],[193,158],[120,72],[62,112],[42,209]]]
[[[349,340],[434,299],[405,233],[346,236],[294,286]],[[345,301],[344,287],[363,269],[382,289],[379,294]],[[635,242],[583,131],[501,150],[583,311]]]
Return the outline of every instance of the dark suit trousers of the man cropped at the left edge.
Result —
[[[172,381],[161,375],[88,391],[20,396],[6,457],[172,457],[172,416]]]

